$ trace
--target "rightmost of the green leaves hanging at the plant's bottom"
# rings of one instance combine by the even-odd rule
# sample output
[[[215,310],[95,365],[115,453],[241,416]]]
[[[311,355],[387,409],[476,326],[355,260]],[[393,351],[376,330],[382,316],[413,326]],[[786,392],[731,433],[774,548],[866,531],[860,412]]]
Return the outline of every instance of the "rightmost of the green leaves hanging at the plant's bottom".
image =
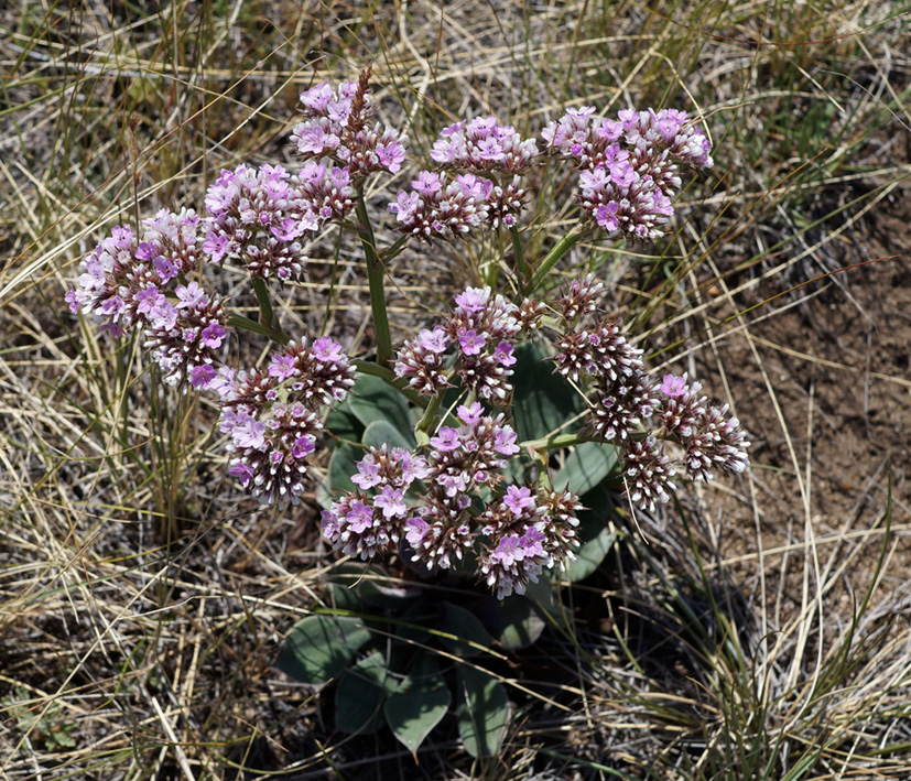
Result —
[[[460,664],[456,671],[458,734],[473,757],[494,757],[509,726],[506,690],[489,673]]]

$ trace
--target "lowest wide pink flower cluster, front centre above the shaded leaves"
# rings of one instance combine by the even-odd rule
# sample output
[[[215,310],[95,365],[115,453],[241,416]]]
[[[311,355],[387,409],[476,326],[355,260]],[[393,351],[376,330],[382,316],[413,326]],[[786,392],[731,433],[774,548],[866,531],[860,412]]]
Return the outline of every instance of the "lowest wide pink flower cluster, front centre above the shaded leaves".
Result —
[[[523,594],[542,570],[572,557],[577,498],[510,485],[500,470],[519,452],[503,415],[459,406],[425,453],[372,447],[351,481],[358,489],[323,512],[323,534],[344,553],[370,558],[404,539],[415,562],[448,570],[478,551],[477,574],[499,598]],[[421,490],[415,490],[421,485]],[[478,511],[480,492],[499,493]]]

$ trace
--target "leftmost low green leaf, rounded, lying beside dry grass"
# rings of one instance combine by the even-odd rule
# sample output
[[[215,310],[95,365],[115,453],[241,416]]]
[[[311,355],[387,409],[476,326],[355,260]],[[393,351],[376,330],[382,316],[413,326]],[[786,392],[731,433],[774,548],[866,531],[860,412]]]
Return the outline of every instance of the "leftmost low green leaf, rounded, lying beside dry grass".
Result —
[[[307,616],[284,639],[275,666],[302,683],[326,683],[369,639],[359,618]]]

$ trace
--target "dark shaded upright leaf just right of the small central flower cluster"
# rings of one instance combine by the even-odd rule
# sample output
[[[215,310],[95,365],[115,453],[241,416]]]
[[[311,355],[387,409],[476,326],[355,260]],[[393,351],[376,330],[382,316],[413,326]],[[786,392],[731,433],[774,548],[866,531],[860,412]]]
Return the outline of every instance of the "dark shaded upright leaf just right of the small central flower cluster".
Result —
[[[553,372],[553,364],[544,360],[539,345],[529,343],[518,347],[512,370],[513,427],[520,442],[543,438],[582,412],[582,398],[563,377]]]

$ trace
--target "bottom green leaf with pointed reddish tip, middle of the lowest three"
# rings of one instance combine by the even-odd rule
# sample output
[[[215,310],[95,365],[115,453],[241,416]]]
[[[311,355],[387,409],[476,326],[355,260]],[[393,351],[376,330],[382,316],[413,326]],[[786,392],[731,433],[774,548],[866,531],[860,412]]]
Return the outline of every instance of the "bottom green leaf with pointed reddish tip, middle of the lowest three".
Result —
[[[452,692],[440,674],[440,665],[422,653],[394,694],[386,701],[386,720],[409,751],[416,753],[424,738],[449,709]]]

